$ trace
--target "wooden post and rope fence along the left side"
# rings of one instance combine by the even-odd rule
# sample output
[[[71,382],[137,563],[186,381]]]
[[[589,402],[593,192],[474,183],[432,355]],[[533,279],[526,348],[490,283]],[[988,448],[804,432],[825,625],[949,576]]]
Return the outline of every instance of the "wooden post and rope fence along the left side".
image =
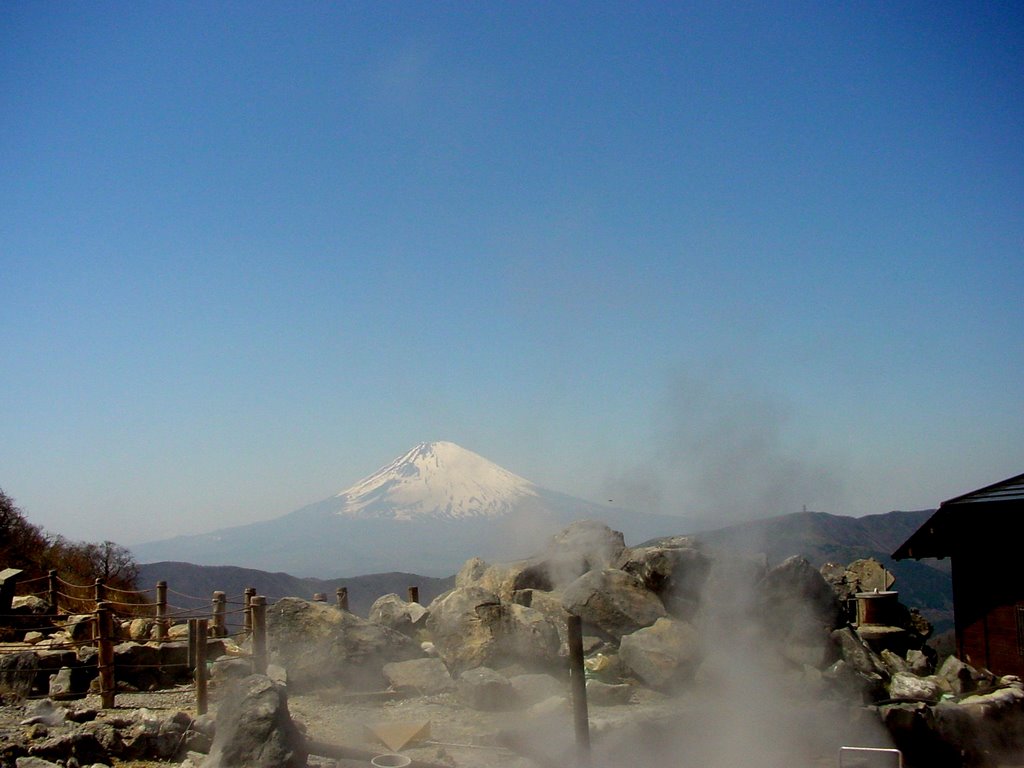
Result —
[[[90,689],[98,690],[101,706],[111,709],[115,707],[119,671],[123,680],[139,673],[150,673],[157,682],[164,683],[187,677],[188,686],[196,691],[197,712],[205,714],[207,656],[212,643],[248,643],[245,652],[236,650],[232,656],[248,657],[254,674],[266,672],[266,608],[281,597],[257,595],[253,587],[247,587],[242,595],[228,597],[218,590],[210,597],[200,597],[172,590],[167,582],[146,590],[110,587],[100,579],[93,584],[74,584],[61,579],[56,570],[22,582],[19,573],[13,569],[0,572],[0,690],[9,689],[23,698],[45,698],[52,695],[54,675],[70,669],[69,675],[79,680],[91,676]],[[15,594],[39,598],[45,607],[37,605],[31,612],[14,612]],[[186,604],[169,603],[169,595]],[[418,602],[417,588],[410,587],[409,596]],[[336,599],[340,610],[348,610],[347,588],[339,587]],[[327,597],[317,593],[313,600],[327,602]],[[187,605],[189,602],[194,604]],[[119,643],[129,639],[134,620],[146,621],[130,632],[134,639],[156,646],[147,652],[159,653],[158,660],[143,662],[141,656],[132,656],[132,648],[117,649]],[[177,629],[182,626],[186,633]],[[61,632],[67,640],[53,637],[60,638],[57,633]],[[39,637],[31,637],[30,633]],[[15,642],[10,639],[14,636],[23,639]],[[182,643],[187,647],[180,648]],[[83,654],[83,648],[95,650]],[[41,655],[36,652],[40,649],[71,653]],[[223,652],[223,645],[214,652]],[[180,690],[179,686],[166,692]],[[162,691],[156,688],[150,692]]]

